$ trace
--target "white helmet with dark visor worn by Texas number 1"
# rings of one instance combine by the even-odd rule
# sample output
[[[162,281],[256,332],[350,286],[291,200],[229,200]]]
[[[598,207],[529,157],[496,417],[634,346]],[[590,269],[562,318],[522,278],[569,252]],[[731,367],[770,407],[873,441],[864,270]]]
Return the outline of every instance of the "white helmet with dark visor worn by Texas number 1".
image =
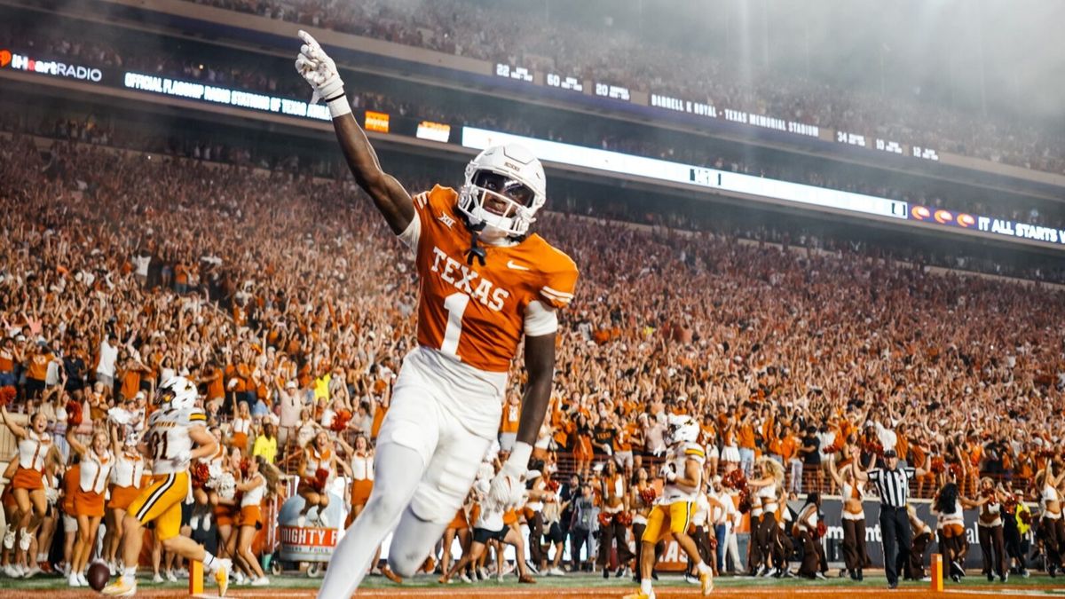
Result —
[[[485,224],[486,238],[492,232],[520,238],[536,221],[546,193],[543,166],[531,151],[515,144],[492,146],[466,165],[458,209],[471,225]]]

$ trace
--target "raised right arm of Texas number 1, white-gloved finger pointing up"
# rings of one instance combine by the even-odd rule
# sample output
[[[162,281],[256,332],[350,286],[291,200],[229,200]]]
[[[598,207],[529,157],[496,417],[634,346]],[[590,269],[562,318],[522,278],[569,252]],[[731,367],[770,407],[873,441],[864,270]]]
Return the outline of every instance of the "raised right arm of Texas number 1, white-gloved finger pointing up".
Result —
[[[296,70],[314,88],[311,103],[320,97],[325,100],[332,116],[337,140],[340,141],[340,147],[351,175],[355,176],[355,181],[374,200],[374,206],[384,215],[392,232],[396,234],[404,232],[415,217],[414,203],[410,194],[395,177],[381,171],[377,152],[351,114],[351,107],[347,102],[344,82],[340,79],[337,64],[309,33],[300,31],[299,38],[304,41],[304,45],[296,59]]]

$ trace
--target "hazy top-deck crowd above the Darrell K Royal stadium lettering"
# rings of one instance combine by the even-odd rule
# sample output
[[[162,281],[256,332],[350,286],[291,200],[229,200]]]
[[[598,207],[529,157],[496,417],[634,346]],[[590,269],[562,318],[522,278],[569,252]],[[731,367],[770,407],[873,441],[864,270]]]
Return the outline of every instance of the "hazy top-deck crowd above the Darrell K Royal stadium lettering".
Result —
[[[1065,167],[1061,139],[1036,123],[967,117],[935,102],[830,86],[798,75],[756,71],[744,80],[722,60],[669,39],[648,38],[621,27],[547,20],[539,4],[526,6],[524,18],[515,18],[512,4],[468,0],[190,1],[836,130],[876,131],[885,139],[1036,171]],[[671,68],[674,65],[687,68]]]

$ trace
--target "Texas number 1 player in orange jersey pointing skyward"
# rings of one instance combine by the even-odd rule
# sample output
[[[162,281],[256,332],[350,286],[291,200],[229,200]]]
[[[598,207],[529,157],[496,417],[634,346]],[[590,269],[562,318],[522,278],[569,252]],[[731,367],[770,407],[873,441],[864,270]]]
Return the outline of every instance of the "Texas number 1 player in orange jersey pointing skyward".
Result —
[[[420,277],[417,347],[404,360],[377,439],[377,480],[318,595],[347,599],[389,532],[389,565],[409,577],[454,519],[495,438],[524,337],[528,385],[517,442],[490,490],[499,504],[520,497],[551,396],[555,311],[573,297],[577,269],[529,231],[546,198],[543,167],[527,149],[488,148],[466,166],[460,191],[437,185],[412,198],[381,169],[337,65],[314,38],[300,37],[296,69],[312,99],[325,99],[355,180],[414,254]]]

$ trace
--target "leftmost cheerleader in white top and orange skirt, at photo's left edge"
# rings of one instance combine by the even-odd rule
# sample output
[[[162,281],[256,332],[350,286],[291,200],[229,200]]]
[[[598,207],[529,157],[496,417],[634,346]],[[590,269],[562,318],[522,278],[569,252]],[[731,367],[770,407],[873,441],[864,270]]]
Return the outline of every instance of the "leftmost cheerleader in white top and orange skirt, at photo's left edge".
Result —
[[[18,528],[19,553],[24,554],[33,543],[33,535],[48,511],[48,498],[45,495],[45,469],[61,466],[59,451],[52,442],[51,435],[45,432],[48,420],[37,412],[30,417],[30,426],[23,428],[16,424],[7,414],[7,406],[0,406],[0,418],[18,439],[18,468],[12,479],[12,495],[18,508],[15,518],[7,524],[3,545],[6,549],[15,546],[15,531]]]

